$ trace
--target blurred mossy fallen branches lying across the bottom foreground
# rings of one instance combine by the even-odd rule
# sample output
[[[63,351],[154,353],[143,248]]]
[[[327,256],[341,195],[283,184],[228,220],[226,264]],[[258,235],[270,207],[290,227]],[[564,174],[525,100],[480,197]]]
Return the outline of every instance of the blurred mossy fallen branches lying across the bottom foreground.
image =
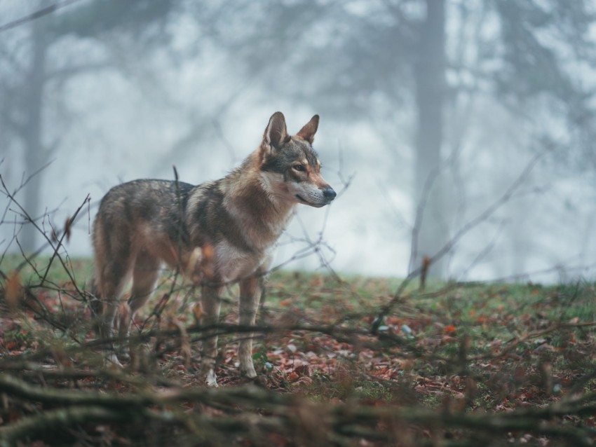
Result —
[[[278,432],[304,439],[316,433],[326,443],[337,436],[343,438],[396,441],[391,429],[375,429],[379,424],[399,427],[404,424],[428,427],[431,430],[470,429],[474,432],[502,434],[527,432],[536,436],[557,436],[574,446],[591,445],[595,432],[590,427],[564,423],[571,415],[593,414],[596,394],[577,401],[562,401],[544,408],[510,411],[509,413],[463,413],[436,411],[421,406],[363,406],[354,404],[313,404],[292,394],[280,394],[257,387],[227,387],[222,389],[182,388],[145,390],[135,394],[55,390],[29,385],[25,381],[0,375],[0,392],[10,399],[65,406],[37,415],[21,418],[0,429],[0,446],[12,446],[18,441],[47,439],[51,432],[65,427],[88,423],[164,422],[183,427],[192,433],[204,429],[217,431],[213,439],[230,439],[231,434],[258,436]],[[208,411],[187,413],[176,410],[176,404],[193,402],[205,407],[217,405],[218,411],[230,406],[243,406],[242,413]],[[168,409],[166,409],[168,408]],[[173,409],[172,409],[173,408]],[[179,407],[181,408],[181,407]],[[258,415],[259,408],[267,413]],[[256,413],[255,413],[256,412]],[[313,417],[314,416],[314,417]],[[48,432],[49,431],[49,432]],[[217,444],[216,444],[217,445]]]

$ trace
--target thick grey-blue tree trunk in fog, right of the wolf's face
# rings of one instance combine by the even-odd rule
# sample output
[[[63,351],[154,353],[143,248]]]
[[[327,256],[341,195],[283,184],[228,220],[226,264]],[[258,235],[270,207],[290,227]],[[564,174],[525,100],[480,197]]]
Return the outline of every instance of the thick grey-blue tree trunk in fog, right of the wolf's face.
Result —
[[[410,271],[420,268],[447,242],[444,188],[438,175],[441,165],[443,98],[445,96],[445,1],[426,0],[426,19],[419,27],[419,47],[414,64],[416,83],[416,167],[414,195],[417,219],[412,238]],[[432,182],[432,187],[428,186]],[[431,263],[428,277],[442,277],[445,262]]]

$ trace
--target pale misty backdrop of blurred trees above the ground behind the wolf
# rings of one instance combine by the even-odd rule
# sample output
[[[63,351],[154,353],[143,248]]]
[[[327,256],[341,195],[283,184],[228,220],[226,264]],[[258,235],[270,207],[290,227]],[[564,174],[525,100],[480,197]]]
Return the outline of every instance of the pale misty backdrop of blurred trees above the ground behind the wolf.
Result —
[[[588,0],[0,0],[0,253],[46,245],[7,192],[47,235],[84,204],[65,250],[90,256],[111,186],[222,177],[279,110],[320,114],[341,194],[299,205],[277,264],[593,278],[595,23]]]

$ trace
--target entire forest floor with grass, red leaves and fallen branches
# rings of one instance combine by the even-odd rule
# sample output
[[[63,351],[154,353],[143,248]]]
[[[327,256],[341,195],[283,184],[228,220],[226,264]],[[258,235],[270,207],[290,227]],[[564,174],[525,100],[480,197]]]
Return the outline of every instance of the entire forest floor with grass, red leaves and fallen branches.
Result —
[[[205,327],[197,291],[164,275],[120,369],[94,341],[90,261],[20,260],[0,262],[0,447],[596,441],[589,282],[420,291],[278,271],[255,329],[252,382],[238,373],[236,342],[248,332],[236,324],[237,287],[222,297],[221,324]],[[217,388],[198,377],[200,341],[214,331]]]

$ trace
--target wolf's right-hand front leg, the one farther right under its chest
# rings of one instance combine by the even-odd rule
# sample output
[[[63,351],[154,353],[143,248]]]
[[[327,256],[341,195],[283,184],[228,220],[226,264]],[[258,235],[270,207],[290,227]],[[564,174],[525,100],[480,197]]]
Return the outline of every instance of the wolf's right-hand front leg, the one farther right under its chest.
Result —
[[[240,283],[240,324],[241,326],[255,326],[259,299],[261,297],[261,278],[251,277],[242,280]],[[240,372],[249,378],[257,377],[257,371],[252,364],[252,337],[253,333],[247,333],[238,343],[238,359],[240,360]]]

